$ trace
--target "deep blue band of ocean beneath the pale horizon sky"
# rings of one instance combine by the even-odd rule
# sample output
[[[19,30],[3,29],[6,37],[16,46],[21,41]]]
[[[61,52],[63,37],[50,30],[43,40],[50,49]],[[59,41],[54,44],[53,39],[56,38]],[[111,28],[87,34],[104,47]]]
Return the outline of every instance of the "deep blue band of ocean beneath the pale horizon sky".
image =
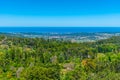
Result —
[[[0,32],[39,32],[39,33],[120,32],[120,27],[0,27]]]

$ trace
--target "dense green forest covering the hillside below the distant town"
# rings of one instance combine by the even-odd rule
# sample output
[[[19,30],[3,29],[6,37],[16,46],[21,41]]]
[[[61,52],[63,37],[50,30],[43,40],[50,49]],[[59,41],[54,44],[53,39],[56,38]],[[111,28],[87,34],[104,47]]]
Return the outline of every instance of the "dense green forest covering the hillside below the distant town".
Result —
[[[120,80],[120,37],[72,43],[0,35],[0,80]]]

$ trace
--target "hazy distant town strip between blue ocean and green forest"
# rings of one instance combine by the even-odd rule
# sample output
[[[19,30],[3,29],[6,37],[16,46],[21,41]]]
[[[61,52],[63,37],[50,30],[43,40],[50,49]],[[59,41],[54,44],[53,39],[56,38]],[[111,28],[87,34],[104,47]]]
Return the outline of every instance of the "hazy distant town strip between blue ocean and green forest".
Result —
[[[44,39],[57,39],[57,40],[69,40],[71,42],[94,42],[101,39],[108,39],[112,36],[120,36],[120,33],[1,33],[8,36],[27,37],[27,38],[44,38]]]

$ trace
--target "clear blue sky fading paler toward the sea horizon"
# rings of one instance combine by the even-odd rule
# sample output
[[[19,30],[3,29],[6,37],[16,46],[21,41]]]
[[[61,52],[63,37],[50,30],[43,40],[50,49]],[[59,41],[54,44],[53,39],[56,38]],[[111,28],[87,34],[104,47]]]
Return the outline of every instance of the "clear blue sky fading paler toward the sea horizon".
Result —
[[[120,0],[0,0],[0,26],[120,27]]]

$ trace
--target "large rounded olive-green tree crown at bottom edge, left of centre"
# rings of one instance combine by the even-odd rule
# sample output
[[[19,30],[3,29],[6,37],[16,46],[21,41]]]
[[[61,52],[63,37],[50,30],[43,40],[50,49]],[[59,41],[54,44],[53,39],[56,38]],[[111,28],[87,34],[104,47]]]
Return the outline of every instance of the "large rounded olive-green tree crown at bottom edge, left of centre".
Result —
[[[34,66],[26,69],[22,77],[26,80],[60,80],[59,70]]]

